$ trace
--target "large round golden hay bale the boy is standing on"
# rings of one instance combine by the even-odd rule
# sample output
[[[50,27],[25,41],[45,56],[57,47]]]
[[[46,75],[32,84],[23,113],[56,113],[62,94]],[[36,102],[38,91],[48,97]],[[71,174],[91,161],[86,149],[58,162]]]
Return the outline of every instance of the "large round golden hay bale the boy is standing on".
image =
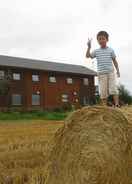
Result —
[[[128,130],[127,119],[113,108],[71,113],[54,136],[46,184],[130,184]]]

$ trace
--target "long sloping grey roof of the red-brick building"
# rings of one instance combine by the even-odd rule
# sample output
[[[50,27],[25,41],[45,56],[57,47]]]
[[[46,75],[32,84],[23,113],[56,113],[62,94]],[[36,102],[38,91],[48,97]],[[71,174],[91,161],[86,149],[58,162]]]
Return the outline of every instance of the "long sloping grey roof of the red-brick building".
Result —
[[[97,73],[85,66],[66,63],[57,63],[37,59],[27,59],[0,55],[0,66],[11,66],[26,69],[37,69],[46,71],[66,72],[83,75],[97,75]]]

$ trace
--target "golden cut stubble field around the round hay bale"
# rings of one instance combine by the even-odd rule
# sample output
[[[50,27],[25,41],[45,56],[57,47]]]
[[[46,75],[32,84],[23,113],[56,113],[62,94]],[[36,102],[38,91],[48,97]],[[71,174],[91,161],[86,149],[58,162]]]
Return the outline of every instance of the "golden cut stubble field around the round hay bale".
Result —
[[[121,108],[132,123],[132,107]],[[46,150],[63,121],[0,121],[0,184],[44,184]]]

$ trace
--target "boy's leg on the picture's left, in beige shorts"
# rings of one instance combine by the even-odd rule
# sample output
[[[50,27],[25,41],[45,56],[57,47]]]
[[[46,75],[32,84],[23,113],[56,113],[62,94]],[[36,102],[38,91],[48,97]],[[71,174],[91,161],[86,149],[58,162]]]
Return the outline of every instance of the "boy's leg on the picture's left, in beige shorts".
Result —
[[[101,98],[100,105],[107,105],[108,75],[107,74],[98,75],[98,79],[99,79],[99,91],[100,91],[100,98]]]

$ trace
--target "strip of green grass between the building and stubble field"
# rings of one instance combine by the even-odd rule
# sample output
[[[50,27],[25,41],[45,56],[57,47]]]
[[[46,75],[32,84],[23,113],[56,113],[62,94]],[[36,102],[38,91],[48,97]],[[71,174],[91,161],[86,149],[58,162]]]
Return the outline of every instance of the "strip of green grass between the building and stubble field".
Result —
[[[70,111],[66,112],[0,112],[0,120],[64,120]]]

